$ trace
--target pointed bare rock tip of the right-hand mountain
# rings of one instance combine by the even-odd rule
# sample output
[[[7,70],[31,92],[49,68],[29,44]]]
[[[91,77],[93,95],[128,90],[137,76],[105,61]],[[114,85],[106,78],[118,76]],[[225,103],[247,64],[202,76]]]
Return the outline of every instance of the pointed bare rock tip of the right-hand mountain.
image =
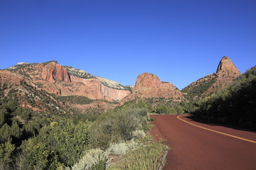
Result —
[[[216,73],[217,74],[231,73],[231,74],[238,74],[238,75],[240,74],[237,67],[235,67],[235,64],[233,64],[233,62],[227,56],[224,56],[220,60]]]

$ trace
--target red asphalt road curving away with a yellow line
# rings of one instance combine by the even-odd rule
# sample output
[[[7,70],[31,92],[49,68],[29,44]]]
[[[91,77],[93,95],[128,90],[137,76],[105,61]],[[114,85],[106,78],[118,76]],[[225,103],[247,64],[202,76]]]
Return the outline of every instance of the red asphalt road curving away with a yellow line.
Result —
[[[178,115],[151,115],[156,120],[151,134],[171,148],[164,170],[256,169],[256,143],[211,132],[178,120]],[[188,115],[180,118],[204,128],[256,141],[255,132],[198,123]]]

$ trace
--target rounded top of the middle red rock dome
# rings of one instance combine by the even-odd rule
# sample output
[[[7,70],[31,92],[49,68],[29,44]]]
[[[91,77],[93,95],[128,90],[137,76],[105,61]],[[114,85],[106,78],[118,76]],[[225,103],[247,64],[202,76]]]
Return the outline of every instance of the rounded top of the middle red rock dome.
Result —
[[[133,91],[137,91],[144,87],[159,87],[161,86],[161,80],[154,74],[143,73],[137,77],[136,84]]]

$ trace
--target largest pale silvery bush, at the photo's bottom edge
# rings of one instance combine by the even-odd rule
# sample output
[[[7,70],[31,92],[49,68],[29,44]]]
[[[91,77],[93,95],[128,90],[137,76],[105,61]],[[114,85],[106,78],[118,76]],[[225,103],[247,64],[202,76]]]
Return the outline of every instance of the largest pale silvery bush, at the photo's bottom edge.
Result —
[[[103,170],[110,166],[111,160],[109,152],[104,152],[102,149],[90,149],[82,158],[75,163],[72,170]]]

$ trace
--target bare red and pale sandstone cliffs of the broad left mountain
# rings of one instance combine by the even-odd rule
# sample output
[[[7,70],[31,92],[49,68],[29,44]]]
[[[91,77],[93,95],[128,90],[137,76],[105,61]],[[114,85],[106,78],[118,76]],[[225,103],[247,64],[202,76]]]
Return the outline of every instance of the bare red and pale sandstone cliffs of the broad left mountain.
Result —
[[[119,101],[131,93],[130,88],[125,88],[115,81],[93,77],[80,69],[63,67],[55,61],[18,63],[8,70],[26,75],[43,90],[58,96],[85,96],[91,99]]]

